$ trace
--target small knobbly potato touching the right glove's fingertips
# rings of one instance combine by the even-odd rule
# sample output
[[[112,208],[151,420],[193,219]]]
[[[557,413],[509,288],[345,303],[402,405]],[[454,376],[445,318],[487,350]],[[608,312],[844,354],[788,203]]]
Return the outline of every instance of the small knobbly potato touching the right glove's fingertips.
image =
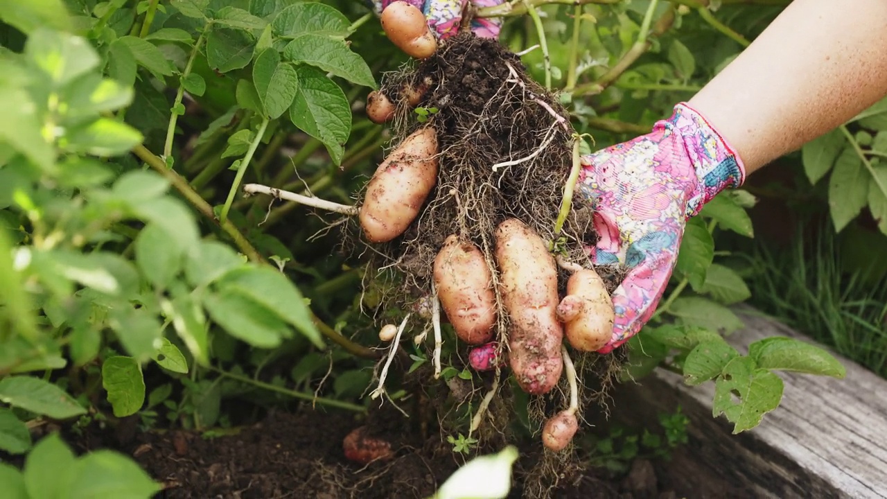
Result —
[[[557,307],[569,345],[597,352],[613,336],[613,301],[600,275],[590,269],[569,276],[567,296]]]

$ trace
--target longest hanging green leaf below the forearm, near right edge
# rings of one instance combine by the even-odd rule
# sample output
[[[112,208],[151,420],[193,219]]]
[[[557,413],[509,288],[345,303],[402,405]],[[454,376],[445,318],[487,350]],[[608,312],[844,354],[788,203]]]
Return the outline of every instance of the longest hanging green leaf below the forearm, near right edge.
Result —
[[[841,232],[866,206],[869,176],[852,147],[837,157],[828,180],[828,208],[835,231]]]

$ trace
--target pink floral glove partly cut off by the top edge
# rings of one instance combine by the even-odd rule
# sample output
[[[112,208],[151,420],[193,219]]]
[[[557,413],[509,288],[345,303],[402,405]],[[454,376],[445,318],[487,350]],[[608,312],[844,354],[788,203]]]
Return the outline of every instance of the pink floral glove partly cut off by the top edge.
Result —
[[[395,0],[368,0],[372,2],[376,13],[381,13],[385,7]],[[462,12],[468,2],[476,8],[491,7],[501,4],[504,0],[406,0],[408,4],[418,8],[428,19],[428,27],[436,32],[438,38],[444,39],[459,32],[462,23]],[[499,28],[502,25],[501,18],[474,19],[471,20],[471,30],[475,35],[483,38],[498,38]]]

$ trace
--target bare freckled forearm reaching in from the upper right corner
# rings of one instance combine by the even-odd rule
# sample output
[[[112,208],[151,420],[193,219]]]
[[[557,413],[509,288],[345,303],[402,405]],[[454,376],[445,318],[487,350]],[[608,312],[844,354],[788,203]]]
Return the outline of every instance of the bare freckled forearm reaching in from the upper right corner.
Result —
[[[795,0],[689,104],[747,173],[887,95],[887,1]]]

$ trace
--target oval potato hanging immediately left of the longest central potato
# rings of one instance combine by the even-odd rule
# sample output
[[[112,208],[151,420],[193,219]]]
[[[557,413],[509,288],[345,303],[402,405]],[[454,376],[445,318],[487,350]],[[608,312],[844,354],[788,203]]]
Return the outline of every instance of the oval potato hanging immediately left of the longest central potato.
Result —
[[[456,336],[468,345],[490,341],[496,325],[496,293],[483,252],[451,234],[435,258],[434,279]]]

